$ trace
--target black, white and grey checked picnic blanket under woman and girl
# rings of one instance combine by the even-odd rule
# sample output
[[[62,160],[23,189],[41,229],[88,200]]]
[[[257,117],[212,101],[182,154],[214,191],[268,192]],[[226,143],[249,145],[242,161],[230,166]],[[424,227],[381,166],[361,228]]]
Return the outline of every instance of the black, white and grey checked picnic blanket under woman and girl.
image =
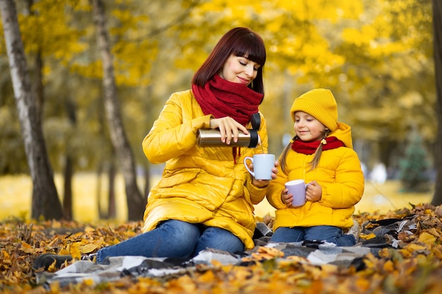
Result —
[[[124,276],[165,278],[167,276],[180,276],[195,271],[196,267],[204,265],[213,267],[213,261],[221,264],[247,266],[248,262],[256,259],[260,248],[273,248],[283,252],[283,256],[275,259],[282,260],[287,257],[298,256],[312,265],[335,264],[338,267],[354,266],[357,270],[364,268],[363,258],[368,254],[378,257],[378,252],[383,247],[398,247],[398,233],[412,234],[416,223],[412,217],[406,219],[386,219],[382,221],[368,221],[362,225],[361,235],[371,235],[371,238],[357,243],[352,247],[338,247],[323,241],[303,241],[299,243],[272,243],[272,231],[265,223],[258,223],[253,236],[256,247],[253,250],[231,254],[220,250],[203,250],[192,259],[180,258],[148,258],[139,256],[109,257],[102,264],[90,261],[78,261],[60,269],[55,273],[46,271],[35,272],[38,284],[47,288],[52,283],[60,286],[81,283],[85,280],[92,283],[117,281]],[[261,250],[262,251],[262,250]],[[262,261],[262,260],[261,260]]]

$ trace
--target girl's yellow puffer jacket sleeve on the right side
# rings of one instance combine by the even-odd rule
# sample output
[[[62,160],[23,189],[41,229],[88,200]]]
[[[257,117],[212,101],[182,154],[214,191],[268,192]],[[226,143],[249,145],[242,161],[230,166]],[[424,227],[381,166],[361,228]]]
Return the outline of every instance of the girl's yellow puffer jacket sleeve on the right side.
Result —
[[[335,173],[336,183],[323,185],[321,204],[332,208],[353,207],[364,193],[364,174],[356,152],[348,149]]]

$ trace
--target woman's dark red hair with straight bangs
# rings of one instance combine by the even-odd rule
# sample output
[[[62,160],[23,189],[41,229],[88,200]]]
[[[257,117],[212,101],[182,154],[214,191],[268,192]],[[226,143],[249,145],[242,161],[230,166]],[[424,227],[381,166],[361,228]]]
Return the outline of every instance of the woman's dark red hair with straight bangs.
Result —
[[[256,78],[251,82],[251,90],[264,94],[263,68],[265,63],[265,46],[263,39],[248,27],[235,27],[229,30],[210,53],[203,65],[193,75],[192,85],[204,87],[214,75],[220,72],[230,55],[246,57],[260,65]]]

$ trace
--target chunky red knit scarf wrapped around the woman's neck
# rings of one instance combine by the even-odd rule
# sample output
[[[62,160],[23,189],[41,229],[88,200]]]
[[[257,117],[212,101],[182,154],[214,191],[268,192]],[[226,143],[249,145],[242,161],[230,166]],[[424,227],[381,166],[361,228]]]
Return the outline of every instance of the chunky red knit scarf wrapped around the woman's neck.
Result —
[[[228,82],[220,75],[214,75],[204,87],[192,85],[192,90],[205,115],[212,114],[215,118],[230,116],[241,125],[249,123],[263,100],[263,94],[244,84]]]

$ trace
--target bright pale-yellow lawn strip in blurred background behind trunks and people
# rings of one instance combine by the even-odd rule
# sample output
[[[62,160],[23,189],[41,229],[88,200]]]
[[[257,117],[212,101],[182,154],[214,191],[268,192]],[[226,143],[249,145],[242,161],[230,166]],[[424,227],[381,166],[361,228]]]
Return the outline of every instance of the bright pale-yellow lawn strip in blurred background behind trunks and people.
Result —
[[[160,179],[160,176],[153,176],[153,184]],[[121,223],[127,220],[126,195],[124,193],[124,178],[119,175],[116,178],[115,194],[117,211],[114,217],[109,221]],[[63,191],[63,177],[55,176],[55,182],[58,190]],[[143,178],[140,178],[140,183]],[[109,182],[107,177],[100,180],[92,173],[78,173],[73,178],[73,219],[80,222],[95,223],[100,219],[99,209],[107,211],[109,201],[107,195],[109,192]],[[98,189],[102,185],[102,189]],[[366,182],[364,196],[356,205],[355,214],[368,212],[369,214],[385,214],[388,211],[396,209],[409,208],[410,204],[431,202],[433,191],[429,192],[400,192],[401,184],[398,180],[388,180],[385,183]],[[100,190],[101,197],[97,197],[97,190]],[[2,200],[0,206],[0,221],[4,219],[30,218],[30,194],[32,192],[32,180],[29,176],[2,176],[0,177],[0,191]],[[98,204],[100,200],[100,204]],[[275,215],[275,209],[263,200],[256,205],[255,215],[263,217],[265,214]]]

